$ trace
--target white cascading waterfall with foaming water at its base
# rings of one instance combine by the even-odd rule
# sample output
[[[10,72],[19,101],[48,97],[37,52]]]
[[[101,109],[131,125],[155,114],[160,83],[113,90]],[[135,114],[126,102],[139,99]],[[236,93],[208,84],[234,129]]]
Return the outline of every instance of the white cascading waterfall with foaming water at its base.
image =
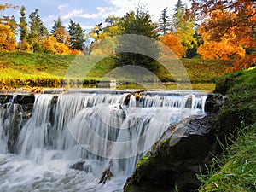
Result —
[[[8,153],[9,108],[0,110],[0,191],[122,191],[137,160],[173,124],[204,113],[206,96],[37,95]],[[74,168],[74,169],[73,169]],[[109,168],[113,178],[99,184]],[[83,171],[78,171],[83,170]]]

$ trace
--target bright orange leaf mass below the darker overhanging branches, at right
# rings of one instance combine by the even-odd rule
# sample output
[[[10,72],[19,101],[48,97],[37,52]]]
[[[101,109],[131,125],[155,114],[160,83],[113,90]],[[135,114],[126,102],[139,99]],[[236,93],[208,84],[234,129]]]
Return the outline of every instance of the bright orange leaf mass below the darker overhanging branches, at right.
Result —
[[[235,20],[236,17],[237,13],[215,10],[212,11],[210,18],[201,24],[198,32],[201,32],[204,44],[197,51],[203,59],[243,58],[246,54],[245,49],[255,47],[255,41],[247,33],[247,27],[244,27],[243,32],[239,32],[241,29],[235,25],[229,27],[228,32],[221,31],[226,22]]]

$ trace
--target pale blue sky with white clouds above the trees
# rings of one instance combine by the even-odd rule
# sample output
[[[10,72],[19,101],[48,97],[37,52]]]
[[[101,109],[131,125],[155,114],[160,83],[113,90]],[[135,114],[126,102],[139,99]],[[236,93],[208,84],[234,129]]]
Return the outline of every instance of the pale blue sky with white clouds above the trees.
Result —
[[[39,15],[49,30],[53,26],[53,20],[61,16],[65,25],[69,23],[69,19],[72,19],[79,22],[87,32],[90,32],[95,24],[102,22],[109,15],[123,16],[125,13],[134,10],[137,3],[145,4],[148,7],[149,14],[152,15],[152,19],[157,21],[160,18],[161,11],[166,7],[168,7],[169,15],[173,14],[172,11],[177,0],[6,0],[5,2],[20,7],[24,5],[26,7],[26,17],[35,9],[39,9]],[[183,0],[183,3],[189,3],[189,0]],[[20,17],[19,10],[15,9],[6,11],[3,15]]]

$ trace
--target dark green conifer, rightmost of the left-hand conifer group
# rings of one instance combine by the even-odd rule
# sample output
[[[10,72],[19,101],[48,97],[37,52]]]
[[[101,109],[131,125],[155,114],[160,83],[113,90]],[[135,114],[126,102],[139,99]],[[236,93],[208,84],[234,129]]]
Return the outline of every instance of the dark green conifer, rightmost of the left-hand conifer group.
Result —
[[[73,49],[83,50],[85,35],[84,30],[80,26],[79,23],[75,23],[73,20],[70,20],[70,24],[68,26],[68,33],[70,35],[70,46]]]

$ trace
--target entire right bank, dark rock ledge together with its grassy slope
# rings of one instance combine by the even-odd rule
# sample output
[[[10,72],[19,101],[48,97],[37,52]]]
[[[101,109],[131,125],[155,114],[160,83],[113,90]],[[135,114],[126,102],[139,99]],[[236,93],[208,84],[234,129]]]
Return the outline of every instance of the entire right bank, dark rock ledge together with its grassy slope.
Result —
[[[138,161],[125,192],[254,191],[255,72],[253,68],[219,79],[216,92],[224,100],[212,96],[207,117],[182,122],[177,134],[171,127]],[[184,127],[185,134],[173,145]]]

